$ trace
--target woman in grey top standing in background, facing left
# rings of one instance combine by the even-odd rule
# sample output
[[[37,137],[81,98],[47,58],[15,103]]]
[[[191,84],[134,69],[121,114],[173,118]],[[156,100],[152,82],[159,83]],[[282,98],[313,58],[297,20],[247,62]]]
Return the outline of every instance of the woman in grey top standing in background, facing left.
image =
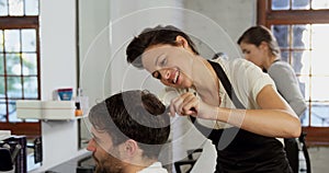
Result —
[[[290,64],[281,60],[277,42],[271,31],[262,25],[248,28],[238,39],[245,58],[273,79],[279,93],[300,117],[306,109],[299,83]],[[285,149],[294,172],[298,172],[298,147],[295,138],[285,139]]]

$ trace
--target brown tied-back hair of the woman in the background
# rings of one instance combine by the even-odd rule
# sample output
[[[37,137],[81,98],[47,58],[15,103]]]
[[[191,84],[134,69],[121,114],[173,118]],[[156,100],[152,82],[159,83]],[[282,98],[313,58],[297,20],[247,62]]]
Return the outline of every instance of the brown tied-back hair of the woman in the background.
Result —
[[[274,35],[269,28],[263,25],[252,26],[248,28],[238,39],[238,44],[240,45],[242,42],[256,45],[257,47],[262,42],[265,42],[268,43],[272,55],[274,55],[275,57],[280,57],[281,50]]]

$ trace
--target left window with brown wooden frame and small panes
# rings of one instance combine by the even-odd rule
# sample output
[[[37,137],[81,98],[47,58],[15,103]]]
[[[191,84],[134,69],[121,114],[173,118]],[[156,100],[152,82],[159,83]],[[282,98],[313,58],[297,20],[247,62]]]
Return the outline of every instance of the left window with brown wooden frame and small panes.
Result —
[[[38,0],[0,0],[0,129],[38,136],[39,122],[19,119],[16,100],[39,100]]]

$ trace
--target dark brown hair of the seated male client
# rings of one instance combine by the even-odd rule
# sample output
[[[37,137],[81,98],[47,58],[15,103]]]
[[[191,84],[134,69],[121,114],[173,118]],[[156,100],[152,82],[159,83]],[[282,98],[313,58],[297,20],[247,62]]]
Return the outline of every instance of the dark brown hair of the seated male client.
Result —
[[[89,119],[112,137],[114,146],[133,139],[148,158],[158,157],[170,134],[168,109],[148,91],[117,93],[93,106]]]

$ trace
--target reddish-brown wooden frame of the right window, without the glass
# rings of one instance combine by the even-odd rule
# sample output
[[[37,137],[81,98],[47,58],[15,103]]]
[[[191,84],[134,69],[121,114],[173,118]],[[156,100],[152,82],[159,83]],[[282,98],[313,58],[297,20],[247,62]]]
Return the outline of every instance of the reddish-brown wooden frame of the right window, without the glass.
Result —
[[[271,10],[272,0],[257,1],[257,24],[329,24],[328,10]],[[310,103],[309,103],[310,104]],[[329,146],[329,127],[303,127],[308,146]]]

